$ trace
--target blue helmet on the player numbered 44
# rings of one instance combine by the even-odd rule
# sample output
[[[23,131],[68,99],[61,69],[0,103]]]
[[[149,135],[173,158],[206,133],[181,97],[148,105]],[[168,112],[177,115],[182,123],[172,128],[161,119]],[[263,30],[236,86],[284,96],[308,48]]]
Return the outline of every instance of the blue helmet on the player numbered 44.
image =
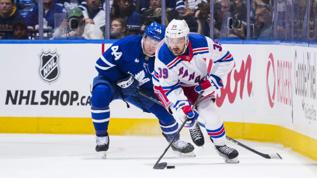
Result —
[[[165,36],[165,26],[153,22],[145,29],[145,35],[155,41],[161,42]]]

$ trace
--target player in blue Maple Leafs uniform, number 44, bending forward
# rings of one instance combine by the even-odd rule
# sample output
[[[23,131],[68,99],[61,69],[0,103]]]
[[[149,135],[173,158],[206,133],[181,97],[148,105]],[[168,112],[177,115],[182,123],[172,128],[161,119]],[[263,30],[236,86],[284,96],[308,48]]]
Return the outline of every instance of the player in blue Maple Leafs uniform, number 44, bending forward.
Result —
[[[97,152],[104,154],[109,148],[109,104],[115,99],[122,99],[143,112],[154,114],[168,141],[176,135],[178,123],[173,116],[163,106],[137,92],[139,88],[157,98],[151,79],[154,53],[164,34],[165,27],[153,22],[146,28],[143,36],[130,35],[117,41],[97,60],[96,69],[99,75],[93,79],[91,85],[91,116],[97,135]],[[194,155],[194,146],[181,140],[179,135],[171,147],[177,153]]]

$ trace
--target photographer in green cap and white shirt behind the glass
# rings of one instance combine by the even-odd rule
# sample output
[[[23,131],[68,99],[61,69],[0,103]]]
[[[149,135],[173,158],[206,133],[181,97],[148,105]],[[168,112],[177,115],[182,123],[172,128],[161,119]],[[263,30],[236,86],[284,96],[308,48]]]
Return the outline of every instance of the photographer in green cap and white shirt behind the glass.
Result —
[[[63,29],[67,33],[63,34]],[[84,15],[79,8],[71,9],[68,12],[68,20],[64,20],[55,30],[54,38],[59,37],[82,37],[83,39],[104,39],[101,29],[91,23],[85,23]]]

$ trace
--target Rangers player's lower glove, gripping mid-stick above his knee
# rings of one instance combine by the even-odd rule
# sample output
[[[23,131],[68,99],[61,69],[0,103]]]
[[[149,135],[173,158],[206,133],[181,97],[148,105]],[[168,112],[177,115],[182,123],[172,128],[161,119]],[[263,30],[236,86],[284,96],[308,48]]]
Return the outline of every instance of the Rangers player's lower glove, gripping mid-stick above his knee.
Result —
[[[173,107],[176,110],[175,113],[177,115],[177,116],[174,115],[176,117],[175,120],[179,124],[182,124],[188,118],[184,127],[194,128],[199,114],[191,108],[191,104],[189,103],[189,101],[179,100],[176,102],[176,104]]]

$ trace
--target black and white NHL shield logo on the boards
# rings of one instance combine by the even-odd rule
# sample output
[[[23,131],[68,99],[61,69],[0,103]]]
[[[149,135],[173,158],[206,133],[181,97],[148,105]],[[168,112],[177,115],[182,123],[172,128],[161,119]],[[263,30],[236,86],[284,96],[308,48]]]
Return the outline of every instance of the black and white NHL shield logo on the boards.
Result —
[[[49,85],[59,78],[59,57],[60,55],[55,51],[44,51],[42,49],[41,54],[39,54],[40,65],[39,65],[39,75],[41,80],[48,83]]]

